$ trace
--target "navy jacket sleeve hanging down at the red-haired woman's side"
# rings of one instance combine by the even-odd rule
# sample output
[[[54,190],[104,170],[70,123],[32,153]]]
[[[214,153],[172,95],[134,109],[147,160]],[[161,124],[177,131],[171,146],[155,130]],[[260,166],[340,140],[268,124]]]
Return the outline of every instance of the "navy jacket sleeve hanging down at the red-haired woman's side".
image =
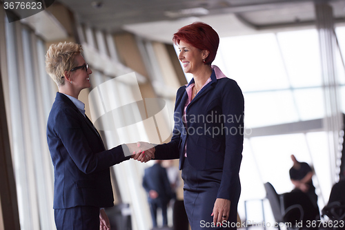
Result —
[[[242,161],[244,140],[244,97],[233,80],[226,82],[221,95],[222,111],[229,119],[224,121],[226,146],[223,175],[217,198],[233,200],[241,189],[239,166]]]

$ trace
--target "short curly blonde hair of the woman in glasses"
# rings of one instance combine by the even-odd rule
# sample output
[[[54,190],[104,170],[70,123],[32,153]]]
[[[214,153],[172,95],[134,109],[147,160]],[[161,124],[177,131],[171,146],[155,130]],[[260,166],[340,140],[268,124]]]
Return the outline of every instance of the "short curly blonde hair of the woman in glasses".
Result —
[[[65,84],[65,72],[76,67],[75,56],[81,52],[83,52],[81,45],[74,42],[50,45],[46,54],[46,71],[57,86]]]

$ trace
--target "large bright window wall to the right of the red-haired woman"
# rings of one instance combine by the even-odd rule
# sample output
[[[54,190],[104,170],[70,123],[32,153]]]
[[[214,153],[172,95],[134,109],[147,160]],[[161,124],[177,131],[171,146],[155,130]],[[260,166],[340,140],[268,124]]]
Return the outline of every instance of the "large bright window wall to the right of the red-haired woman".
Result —
[[[344,95],[341,53],[345,52],[345,28],[336,32],[341,41],[337,76]],[[313,166],[322,209],[331,191],[331,178],[335,177],[331,175],[328,137],[320,126],[304,126],[326,115],[317,30],[222,38],[213,64],[242,88],[246,133],[255,128],[262,131],[259,136],[246,136],[244,142],[240,217],[245,217],[245,200],[265,198],[265,182],[273,184],[277,193],[293,189],[289,177],[292,154]]]

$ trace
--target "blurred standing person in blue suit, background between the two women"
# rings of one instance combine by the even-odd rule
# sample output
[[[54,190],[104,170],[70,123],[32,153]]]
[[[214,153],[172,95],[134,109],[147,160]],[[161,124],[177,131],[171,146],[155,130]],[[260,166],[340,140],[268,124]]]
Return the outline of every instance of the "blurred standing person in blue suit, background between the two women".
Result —
[[[152,216],[153,227],[157,227],[157,208],[161,209],[163,215],[163,225],[168,225],[167,206],[172,198],[172,190],[166,169],[161,166],[161,161],[157,160],[155,164],[145,169],[143,186],[148,193],[148,204]]]

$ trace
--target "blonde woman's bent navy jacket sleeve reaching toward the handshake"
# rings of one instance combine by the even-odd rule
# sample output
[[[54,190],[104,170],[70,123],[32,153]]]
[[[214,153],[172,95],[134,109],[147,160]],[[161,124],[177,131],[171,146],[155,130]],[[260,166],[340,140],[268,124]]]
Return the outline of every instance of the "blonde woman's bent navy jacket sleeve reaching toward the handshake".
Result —
[[[61,139],[64,148],[83,173],[93,173],[108,169],[114,164],[130,159],[125,157],[124,151],[129,151],[123,144],[105,151],[103,143],[98,136],[95,136],[95,142],[90,142],[90,136],[96,133],[85,133],[83,131],[83,121],[78,117],[77,111],[72,108],[63,108],[55,117],[55,132]],[[99,139],[97,139],[99,138]],[[101,146],[90,146],[90,144],[99,144]],[[93,150],[92,150],[93,149]],[[95,152],[99,149],[99,152]]]

